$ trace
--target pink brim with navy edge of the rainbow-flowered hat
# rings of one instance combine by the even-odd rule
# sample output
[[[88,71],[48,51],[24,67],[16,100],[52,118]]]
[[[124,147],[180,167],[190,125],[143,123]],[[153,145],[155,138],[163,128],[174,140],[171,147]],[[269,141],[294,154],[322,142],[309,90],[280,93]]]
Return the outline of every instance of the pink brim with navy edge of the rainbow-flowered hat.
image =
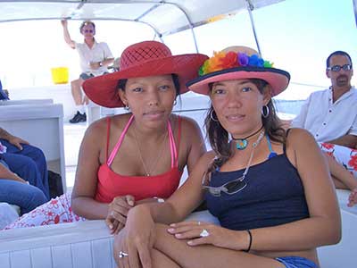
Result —
[[[209,95],[209,84],[224,80],[244,80],[244,79],[261,79],[270,84],[272,88],[271,95],[277,96],[284,91],[290,81],[290,74],[276,68],[263,67],[235,67],[221,71],[213,71],[206,75],[190,80],[187,82],[187,88],[195,93]]]

